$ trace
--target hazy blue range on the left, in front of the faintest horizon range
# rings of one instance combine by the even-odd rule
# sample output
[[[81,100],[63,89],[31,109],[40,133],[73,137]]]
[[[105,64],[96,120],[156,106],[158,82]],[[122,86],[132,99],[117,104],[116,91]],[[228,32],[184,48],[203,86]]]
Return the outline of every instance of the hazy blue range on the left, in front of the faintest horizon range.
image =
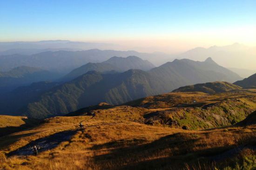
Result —
[[[164,54],[161,54],[164,55]],[[0,69],[8,71],[19,66],[38,67],[42,69],[68,73],[86,63],[101,63],[113,56],[137,56],[144,60],[156,61],[160,54],[140,53],[136,51],[116,50],[84,50],[84,51],[46,51],[32,55],[2,55],[0,56]],[[114,61],[113,61],[114,62]],[[135,63],[134,63],[135,64]]]

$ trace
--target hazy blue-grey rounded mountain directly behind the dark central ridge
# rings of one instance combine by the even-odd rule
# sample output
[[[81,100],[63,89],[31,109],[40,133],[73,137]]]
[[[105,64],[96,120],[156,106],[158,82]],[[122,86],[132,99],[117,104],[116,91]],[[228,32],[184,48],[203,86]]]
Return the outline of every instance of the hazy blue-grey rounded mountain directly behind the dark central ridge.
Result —
[[[86,74],[88,71],[98,71],[102,73],[108,73],[111,71],[124,72],[129,69],[141,69],[149,70],[155,66],[147,60],[142,60],[139,57],[111,57],[102,63],[87,63],[77,69],[74,69],[69,74],[64,76],[61,81],[70,81],[78,76]]]

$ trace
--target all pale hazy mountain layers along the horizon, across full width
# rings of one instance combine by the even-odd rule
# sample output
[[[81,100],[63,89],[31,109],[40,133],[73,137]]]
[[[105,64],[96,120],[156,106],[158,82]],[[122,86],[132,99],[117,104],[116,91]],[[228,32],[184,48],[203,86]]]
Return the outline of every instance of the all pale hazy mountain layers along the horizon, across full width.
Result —
[[[143,60],[148,60],[156,66],[172,61],[175,58],[204,61],[206,58],[212,57],[216,63],[231,68],[232,71],[242,77],[249,76],[249,71],[243,69],[255,70],[253,63],[255,63],[254,58],[256,58],[256,47],[248,47],[238,43],[227,46],[212,46],[207,49],[198,47],[181,54],[143,53],[134,50],[120,51],[117,49],[125,48],[115,44],[66,40],[2,42],[0,43],[0,71],[8,71],[19,66],[29,66],[68,73],[86,63],[101,63],[113,56],[137,56]]]

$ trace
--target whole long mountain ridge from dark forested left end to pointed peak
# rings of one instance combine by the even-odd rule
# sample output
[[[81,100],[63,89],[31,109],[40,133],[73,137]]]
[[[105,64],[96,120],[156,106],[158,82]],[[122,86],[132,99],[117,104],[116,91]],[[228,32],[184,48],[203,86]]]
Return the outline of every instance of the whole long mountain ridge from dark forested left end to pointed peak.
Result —
[[[119,57],[114,59],[119,60],[118,63],[124,60]],[[70,82],[46,90],[15,113],[34,118],[52,117],[100,102],[116,105],[170,92],[189,84],[235,82],[239,79],[240,76],[219,66],[211,58],[204,62],[175,60],[149,71],[130,69],[110,74],[89,71]]]

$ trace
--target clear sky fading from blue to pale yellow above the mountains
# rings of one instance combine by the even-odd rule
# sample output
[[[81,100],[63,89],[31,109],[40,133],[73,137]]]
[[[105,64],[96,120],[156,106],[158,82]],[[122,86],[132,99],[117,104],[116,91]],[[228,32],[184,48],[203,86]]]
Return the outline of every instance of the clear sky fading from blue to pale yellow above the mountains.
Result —
[[[0,42],[55,39],[163,52],[256,46],[256,0],[0,0]]]

